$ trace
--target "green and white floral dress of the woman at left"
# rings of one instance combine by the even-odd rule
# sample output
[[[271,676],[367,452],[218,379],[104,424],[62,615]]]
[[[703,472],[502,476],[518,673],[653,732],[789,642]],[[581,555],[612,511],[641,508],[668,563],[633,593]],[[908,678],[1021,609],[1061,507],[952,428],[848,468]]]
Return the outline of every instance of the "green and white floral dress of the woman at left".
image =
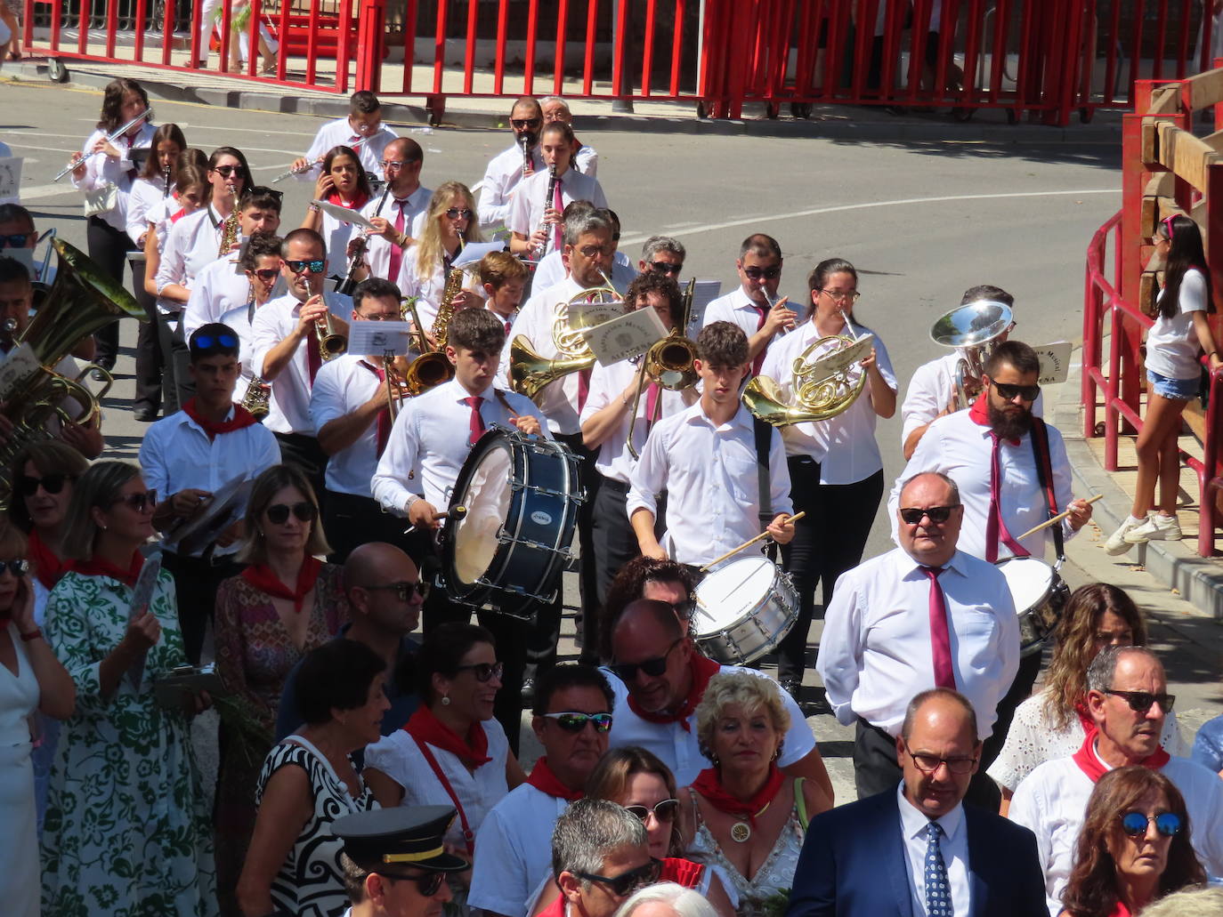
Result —
[[[153,681],[186,663],[166,571],[149,604],[161,637],[138,687],[124,672],[110,697],[99,690],[99,664],[124,638],[131,602],[128,586],[75,571],[46,602],[46,638],[77,699],[51,767],[43,913],[212,917],[212,829],[187,718],[153,698]]]

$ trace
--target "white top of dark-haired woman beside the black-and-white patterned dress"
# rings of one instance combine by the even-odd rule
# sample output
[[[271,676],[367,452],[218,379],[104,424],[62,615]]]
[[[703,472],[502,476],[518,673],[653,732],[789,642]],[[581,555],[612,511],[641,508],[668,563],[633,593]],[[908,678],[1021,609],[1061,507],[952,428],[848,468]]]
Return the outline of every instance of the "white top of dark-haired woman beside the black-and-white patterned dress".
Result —
[[[467,825],[473,833],[479,831],[489,811],[510,791],[505,781],[505,760],[510,753],[510,743],[505,730],[494,719],[479,724],[488,736],[488,751],[492,758],[472,773],[454,752],[448,752],[430,745],[438,767],[450,781],[455,796],[467,816]],[[396,784],[404,787],[400,806],[454,806],[450,794],[438,780],[429,762],[421,753],[416,740],[402,729],[396,729],[389,736],[383,736],[374,745],[366,746],[366,767],[377,768]],[[466,841],[462,836],[462,819],[455,818],[444,838],[460,850]]]

